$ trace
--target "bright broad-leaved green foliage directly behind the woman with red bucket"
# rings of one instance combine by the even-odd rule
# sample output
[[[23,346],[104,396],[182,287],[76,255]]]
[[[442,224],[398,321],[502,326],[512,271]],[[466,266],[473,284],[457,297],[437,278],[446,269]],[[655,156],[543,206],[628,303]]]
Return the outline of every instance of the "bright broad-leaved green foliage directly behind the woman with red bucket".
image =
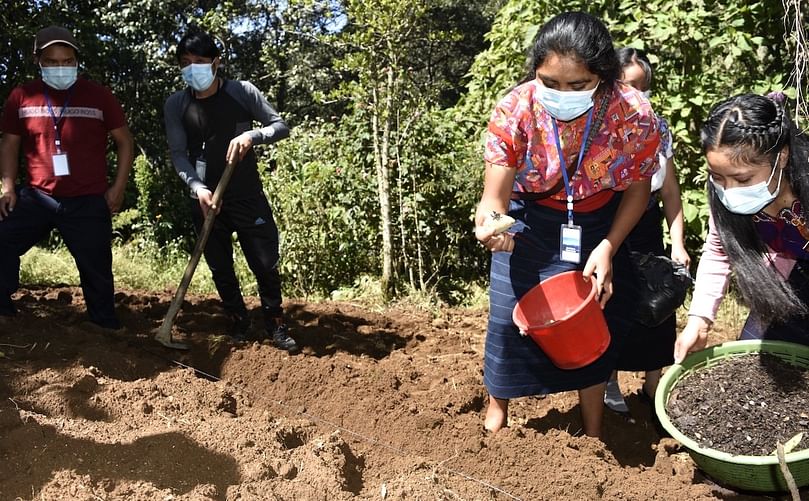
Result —
[[[480,137],[496,101],[526,74],[526,49],[538,27],[568,10],[600,17],[616,46],[650,55],[652,104],[675,136],[687,245],[696,252],[708,216],[699,127],[710,107],[726,96],[784,88],[791,66],[783,57],[780,0],[509,1],[487,34],[491,47],[475,60],[469,92],[456,110],[457,123],[475,131],[473,137]]]

